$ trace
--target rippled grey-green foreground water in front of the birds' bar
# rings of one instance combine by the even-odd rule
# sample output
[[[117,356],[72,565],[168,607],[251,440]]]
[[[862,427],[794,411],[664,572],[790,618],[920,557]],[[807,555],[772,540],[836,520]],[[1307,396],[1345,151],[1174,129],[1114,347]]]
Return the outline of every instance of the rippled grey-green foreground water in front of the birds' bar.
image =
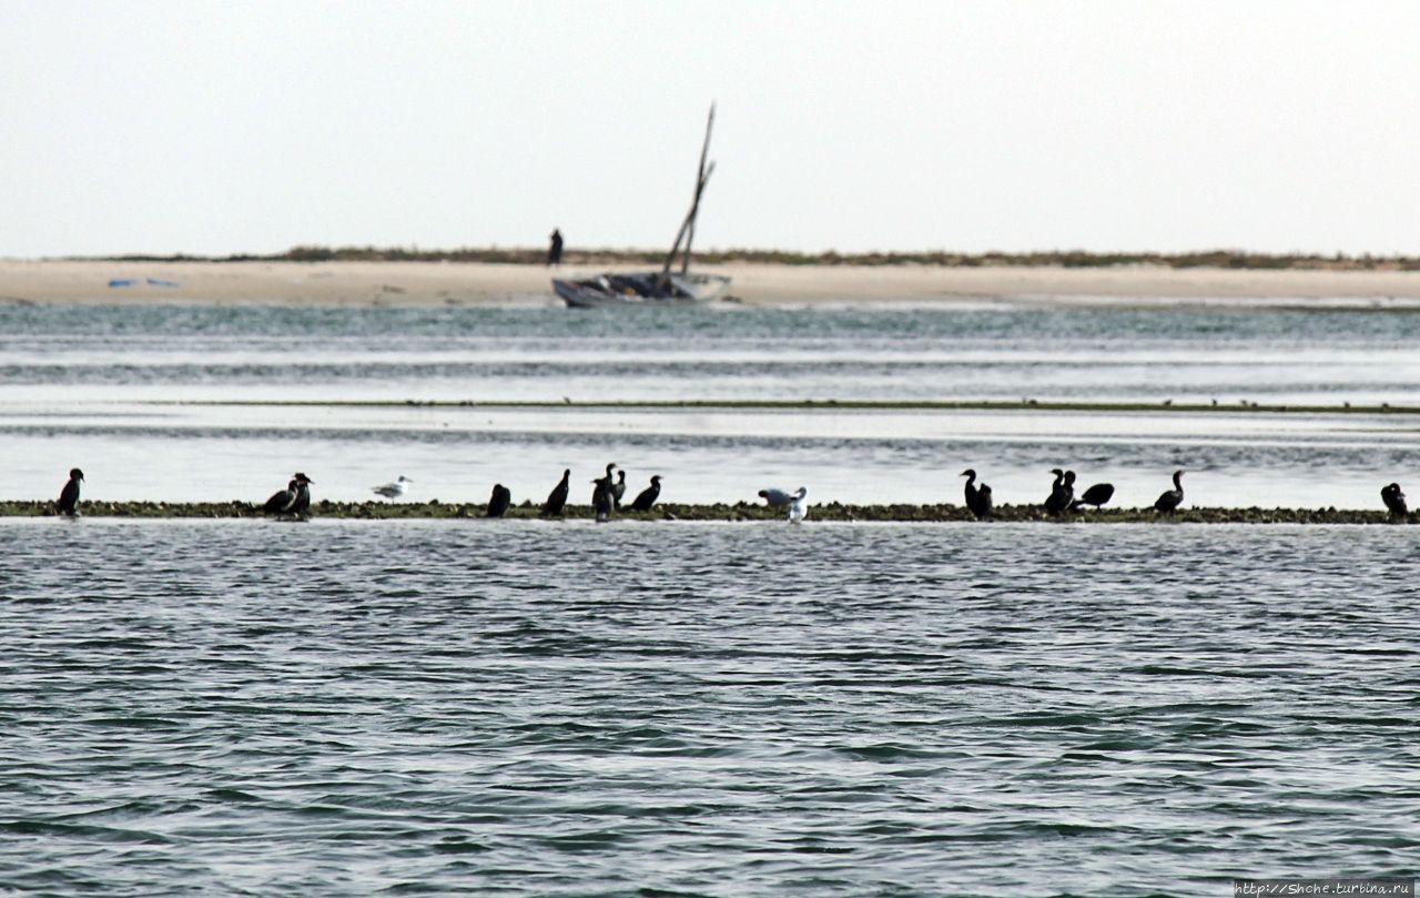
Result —
[[[0,523],[0,888],[1409,875],[1411,537]]]

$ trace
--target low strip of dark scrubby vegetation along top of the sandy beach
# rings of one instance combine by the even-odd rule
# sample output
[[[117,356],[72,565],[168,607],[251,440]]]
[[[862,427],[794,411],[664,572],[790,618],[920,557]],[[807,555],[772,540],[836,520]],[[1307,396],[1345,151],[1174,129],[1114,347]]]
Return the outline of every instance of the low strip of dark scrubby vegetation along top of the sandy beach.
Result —
[[[568,266],[655,264],[665,261],[665,250],[638,249],[567,249]],[[933,266],[933,267],[1065,267],[1102,269],[1116,266],[1156,266],[1163,269],[1295,269],[1311,271],[1417,271],[1420,257],[1348,256],[1333,253],[1248,253],[1244,250],[1198,250],[1191,253],[1091,253],[1085,250],[1047,250],[1032,253],[797,253],[790,250],[724,249],[699,250],[700,264],[758,263],[782,266]],[[375,246],[295,246],[268,256],[109,256],[102,261],[479,261],[493,264],[542,264],[545,247],[459,247],[419,249]]]

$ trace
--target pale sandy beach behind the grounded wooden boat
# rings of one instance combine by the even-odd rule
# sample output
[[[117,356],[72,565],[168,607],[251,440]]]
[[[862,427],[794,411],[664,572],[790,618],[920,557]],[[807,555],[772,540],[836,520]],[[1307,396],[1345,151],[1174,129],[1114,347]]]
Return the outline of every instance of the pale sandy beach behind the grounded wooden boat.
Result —
[[[601,269],[561,269],[562,276]],[[1130,266],[707,266],[748,305],[1005,303],[1417,307],[1420,271]],[[0,260],[0,301],[558,305],[544,266],[402,261]]]

